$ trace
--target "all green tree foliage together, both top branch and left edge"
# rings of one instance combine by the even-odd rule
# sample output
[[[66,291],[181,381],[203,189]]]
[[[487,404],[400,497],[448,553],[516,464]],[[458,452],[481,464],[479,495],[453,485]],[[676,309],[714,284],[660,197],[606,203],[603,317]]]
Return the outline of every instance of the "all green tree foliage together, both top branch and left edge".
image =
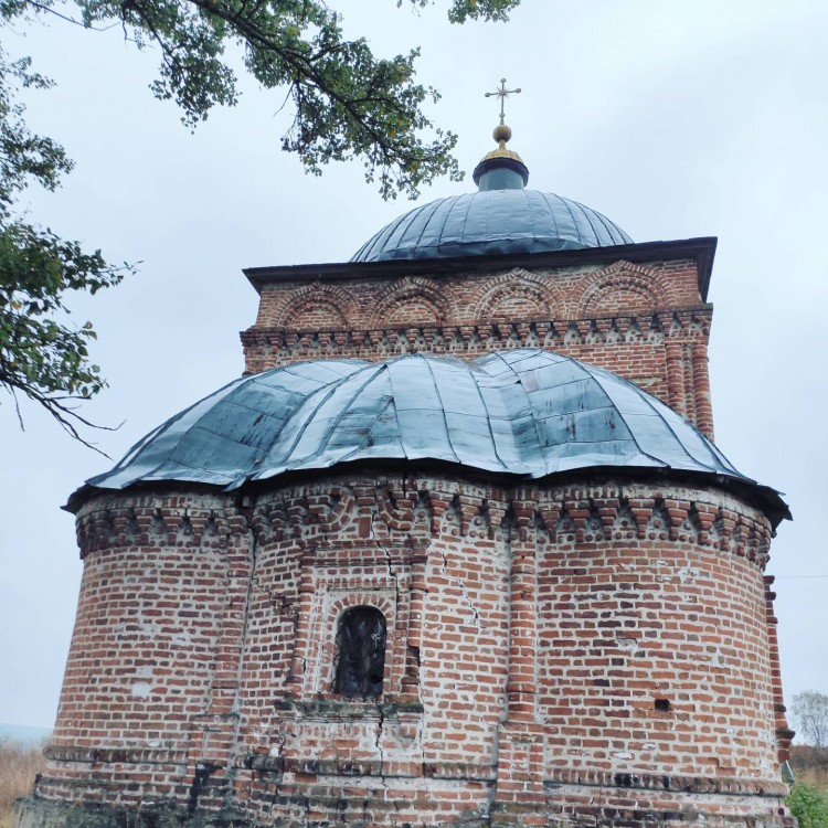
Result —
[[[449,0],[448,17],[505,20],[519,2]],[[282,146],[312,173],[329,161],[359,158],[386,199],[413,198],[439,176],[461,177],[452,156],[456,136],[424,112],[439,93],[414,79],[418,50],[375,56],[365,39],[344,38],[340,14],[325,0],[0,0],[0,23],[35,19],[118,25],[139,49],[153,49],[160,67],[151,91],[173,99],[190,127],[212,107],[236,102],[236,68],[225,53],[241,46],[244,70],[290,100],[294,117]],[[67,322],[66,297],[116,285],[129,267],[113,267],[99,251],[84,252],[17,208],[28,185],[54,190],[72,169],[63,148],[23,120],[20,89],[50,85],[28,57],[10,60],[0,50],[0,385],[15,401],[23,394],[44,405],[86,442],[78,426],[89,423],[72,401],[93,396],[105,381],[88,360],[95,331],[89,322]]]

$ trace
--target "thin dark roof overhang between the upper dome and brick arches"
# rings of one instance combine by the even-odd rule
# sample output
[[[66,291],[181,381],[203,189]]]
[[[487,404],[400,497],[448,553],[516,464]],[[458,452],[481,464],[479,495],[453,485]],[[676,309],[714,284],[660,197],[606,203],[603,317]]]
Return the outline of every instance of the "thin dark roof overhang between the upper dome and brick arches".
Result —
[[[619,244],[613,247],[583,247],[577,251],[552,253],[510,253],[506,255],[456,256],[452,258],[393,259],[389,262],[333,262],[316,265],[280,265],[275,267],[247,267],[243,270],[258,293],[278,282],[338,282],[344,279],[388,278],[452,273],[491,273],[513,267],[537,269],[541,267],[570,267],[573,265],[605,265],[624,259],[645,263],[652,261],[694,259],[698,270],[699,294],[708,300],[710,275],[716,247],[715,236],[686,238],[677,242],[645,242]]]

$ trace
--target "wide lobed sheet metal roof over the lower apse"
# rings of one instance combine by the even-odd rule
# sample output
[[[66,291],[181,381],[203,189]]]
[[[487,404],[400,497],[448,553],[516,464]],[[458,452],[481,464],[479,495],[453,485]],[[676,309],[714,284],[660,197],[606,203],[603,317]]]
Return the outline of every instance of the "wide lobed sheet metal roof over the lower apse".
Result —
[[[675,469],[755,486],[636,385],[569,357],[517,349],[473,362],[431,354],[319,360],[245,376],[168,420],[87,486],[235,489],[376,459],[444,460],[528,478]]]

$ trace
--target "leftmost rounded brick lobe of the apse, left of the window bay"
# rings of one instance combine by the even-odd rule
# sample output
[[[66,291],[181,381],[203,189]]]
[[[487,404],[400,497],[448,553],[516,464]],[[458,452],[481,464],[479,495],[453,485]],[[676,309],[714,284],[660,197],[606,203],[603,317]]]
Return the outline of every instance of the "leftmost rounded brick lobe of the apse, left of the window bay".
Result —
[[[246,593],[250,581],[246,522],[225,503],[129,497],[78,521],[84,574],[46,749],[50,796],[180,797],[191,754],[213,750],[217,730],[199,724],[229,710],[223,668],[230,657],[235,680],[242,635],[233,587],[241,574]]]

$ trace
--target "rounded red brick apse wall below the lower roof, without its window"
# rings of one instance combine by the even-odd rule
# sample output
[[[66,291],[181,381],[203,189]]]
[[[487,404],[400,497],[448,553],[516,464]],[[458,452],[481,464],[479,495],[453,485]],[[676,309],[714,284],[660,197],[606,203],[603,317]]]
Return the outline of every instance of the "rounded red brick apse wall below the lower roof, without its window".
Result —
[[[93,496],[21,825],[787,825],[769,537],[702,478]],[[353,607],[386,625],[375,698],[336,691]]]

